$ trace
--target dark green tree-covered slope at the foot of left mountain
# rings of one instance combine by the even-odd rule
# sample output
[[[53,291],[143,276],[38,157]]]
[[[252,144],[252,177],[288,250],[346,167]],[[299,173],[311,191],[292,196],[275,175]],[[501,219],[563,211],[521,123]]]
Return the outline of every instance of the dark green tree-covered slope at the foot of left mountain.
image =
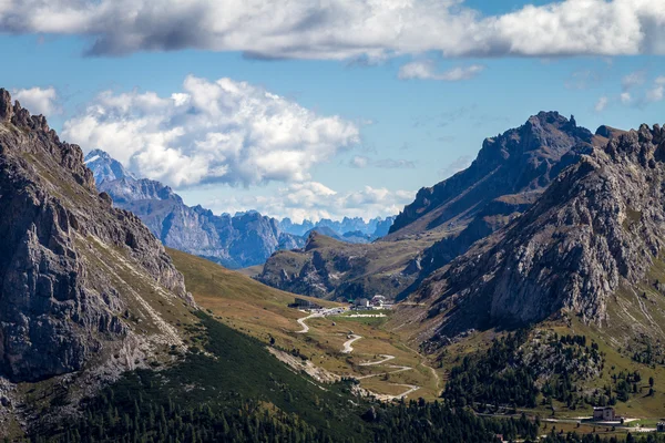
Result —
[[[369,406],[348,383],[325,388],[295,373],[258,340],[201,312],[194,327],[205,352],[181,356],[162,371],[134,371],[91,399],[81,421],[38,431],[43,441],[268,441],[263,432],[301,441],[367,441]],[[38,435],[33,435],[34,440]],[[125,440],[126,439],[126,440]],[[296,440],[293,440],[296,441]],[[300,441],[300,440],[298,440]]]

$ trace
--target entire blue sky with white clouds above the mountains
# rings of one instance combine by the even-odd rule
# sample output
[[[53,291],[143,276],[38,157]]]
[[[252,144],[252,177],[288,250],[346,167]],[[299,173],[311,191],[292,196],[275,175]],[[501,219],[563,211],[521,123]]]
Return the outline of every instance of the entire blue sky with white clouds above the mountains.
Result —
[[[215,213],[370,218],[540,111],[665,122],[662,0],[0,0],[0,86]]]

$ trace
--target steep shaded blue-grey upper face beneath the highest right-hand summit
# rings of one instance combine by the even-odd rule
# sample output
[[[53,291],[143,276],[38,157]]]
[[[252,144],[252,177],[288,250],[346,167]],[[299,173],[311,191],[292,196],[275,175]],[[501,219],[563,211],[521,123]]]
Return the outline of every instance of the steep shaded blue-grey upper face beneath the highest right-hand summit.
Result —
[[[397,216],[390,233],[407,227],[408,231],[432,229],[466,212],[478,213],[500,196],[542,189],[574,163],[575,153],[569,155],[573,147],[592,141],[593,134],[579,127],[574,119],[541,112],[518,128],[485,138],[469,168],[420,189],[416,200]]]

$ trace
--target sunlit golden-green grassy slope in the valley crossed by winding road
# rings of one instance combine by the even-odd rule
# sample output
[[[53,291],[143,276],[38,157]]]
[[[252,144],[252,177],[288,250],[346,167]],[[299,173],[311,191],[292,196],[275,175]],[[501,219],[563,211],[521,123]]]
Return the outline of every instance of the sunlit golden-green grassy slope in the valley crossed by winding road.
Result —
[[[413,349],[401,342],[395,333],[385,330],[388,317],[368,318],[348,315],[313,318],[307,321],[310,330],[298,333],[303,327],[297,319],[307,313],[288,308],[294,296],[262,285],[236,271],[212,261],[177,250],[168,250],[176,268],[185,276],[185,284],[196,302],[223,323],[248,333],[266,344],[274,340],[277,348],[307,358],[317,368],[338,377],[367,377],[361,387],[377,394],[398,395],[418,385],[411,398],[436,399],[439,393],[438,375]],[[326,307],[341,306],[330,301],[311,299]],[[349,333],[360,337],[354,342],[354,351],[341,352]],[[382,360],[383,354],[395,358],[385,364],[362,363]],[[398,371],[397,367],[410,370]],[[395,372],[398,371],[398,372]],[[392,372],[385,375],[388,372]]]

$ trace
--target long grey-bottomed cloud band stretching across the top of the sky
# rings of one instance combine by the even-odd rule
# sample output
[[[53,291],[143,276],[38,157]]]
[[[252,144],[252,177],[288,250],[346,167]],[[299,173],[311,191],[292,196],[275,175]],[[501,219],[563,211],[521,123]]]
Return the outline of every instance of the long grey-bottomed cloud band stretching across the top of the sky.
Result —
[[[90,54],[194,48],[263,59],[665,52],[662,0],[564,0],[484,17],[463,0],[6,0],[0,32],[75,34]]]

